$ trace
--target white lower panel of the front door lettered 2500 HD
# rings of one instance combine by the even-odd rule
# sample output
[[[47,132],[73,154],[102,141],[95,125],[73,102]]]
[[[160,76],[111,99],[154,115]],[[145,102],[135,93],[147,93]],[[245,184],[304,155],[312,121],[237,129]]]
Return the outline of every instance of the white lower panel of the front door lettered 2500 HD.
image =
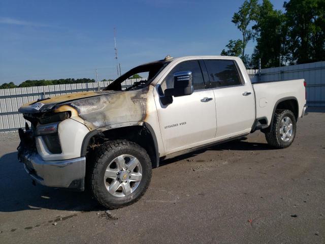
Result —
[[[205,97],[213,100],[201,102]],[[159,97],[156,96],[155,99],[166,152],[215,137],[216,108],[211,89],[197,90],[190,96],[175,97],[174,102],[168,106],[160,104]]]

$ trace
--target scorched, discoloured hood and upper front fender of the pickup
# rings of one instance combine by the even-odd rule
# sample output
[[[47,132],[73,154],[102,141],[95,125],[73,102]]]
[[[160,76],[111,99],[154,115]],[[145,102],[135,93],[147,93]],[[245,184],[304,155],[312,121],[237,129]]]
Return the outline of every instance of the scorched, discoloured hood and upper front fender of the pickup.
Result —
[[[128,91],[83,92],[63,95],[24,104],[19,112],[28,116],[47,116],[70,111],[71,118],[80,121],[89,130],[146,117],[149,87]],[[29,119],[28,119],[29,120]]]

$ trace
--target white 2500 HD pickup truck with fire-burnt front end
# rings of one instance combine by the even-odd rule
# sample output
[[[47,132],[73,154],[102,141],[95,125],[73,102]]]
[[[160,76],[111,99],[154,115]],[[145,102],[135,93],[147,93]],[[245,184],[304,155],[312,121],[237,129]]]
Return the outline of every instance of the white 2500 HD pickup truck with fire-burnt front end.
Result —
[[[147,79],[123,89],[134,74]],[[261,130],[289,146],[306,110],[304,80],[251,84],[238,57],[186,56],[140,65],[99,92],[20,107],[18,158],[34,182],[83,191],[104,206],[137,201],[159,161]]]

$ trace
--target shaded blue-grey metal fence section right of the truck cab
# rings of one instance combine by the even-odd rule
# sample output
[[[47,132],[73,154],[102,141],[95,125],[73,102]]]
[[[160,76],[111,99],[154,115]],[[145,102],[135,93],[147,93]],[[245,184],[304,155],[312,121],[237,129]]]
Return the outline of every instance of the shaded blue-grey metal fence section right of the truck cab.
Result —
[[[261,74],[258,74],[258,70],[248,70],[248,74],[253,83],[305,79],[308,106],[325,106],[325,61],[262,69]]]

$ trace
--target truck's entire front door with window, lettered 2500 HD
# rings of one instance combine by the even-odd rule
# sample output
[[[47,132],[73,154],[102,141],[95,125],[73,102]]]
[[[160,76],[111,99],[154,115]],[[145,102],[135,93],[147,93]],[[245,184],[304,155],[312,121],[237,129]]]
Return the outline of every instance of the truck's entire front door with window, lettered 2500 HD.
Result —
[[[174,73],[191,71],[194,91],[191,95],[173,97],[173,102],[160,102],[164,90],[174,87]],[[167,154],[206,144],[216,134],[216,109],[214,93],[205,88],[198,60],[189,60],[176,65],[158,84],[155,93],[159,127]]]

